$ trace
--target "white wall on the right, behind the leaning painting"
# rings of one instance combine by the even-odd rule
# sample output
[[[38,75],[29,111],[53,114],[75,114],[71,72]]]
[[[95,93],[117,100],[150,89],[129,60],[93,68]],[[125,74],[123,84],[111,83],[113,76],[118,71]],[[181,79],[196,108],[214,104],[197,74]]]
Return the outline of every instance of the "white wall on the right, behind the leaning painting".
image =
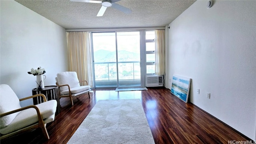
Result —
[[[255,140],[256,1],[206,3],[169,24],[168,74],[192,78],[190,102]]]

